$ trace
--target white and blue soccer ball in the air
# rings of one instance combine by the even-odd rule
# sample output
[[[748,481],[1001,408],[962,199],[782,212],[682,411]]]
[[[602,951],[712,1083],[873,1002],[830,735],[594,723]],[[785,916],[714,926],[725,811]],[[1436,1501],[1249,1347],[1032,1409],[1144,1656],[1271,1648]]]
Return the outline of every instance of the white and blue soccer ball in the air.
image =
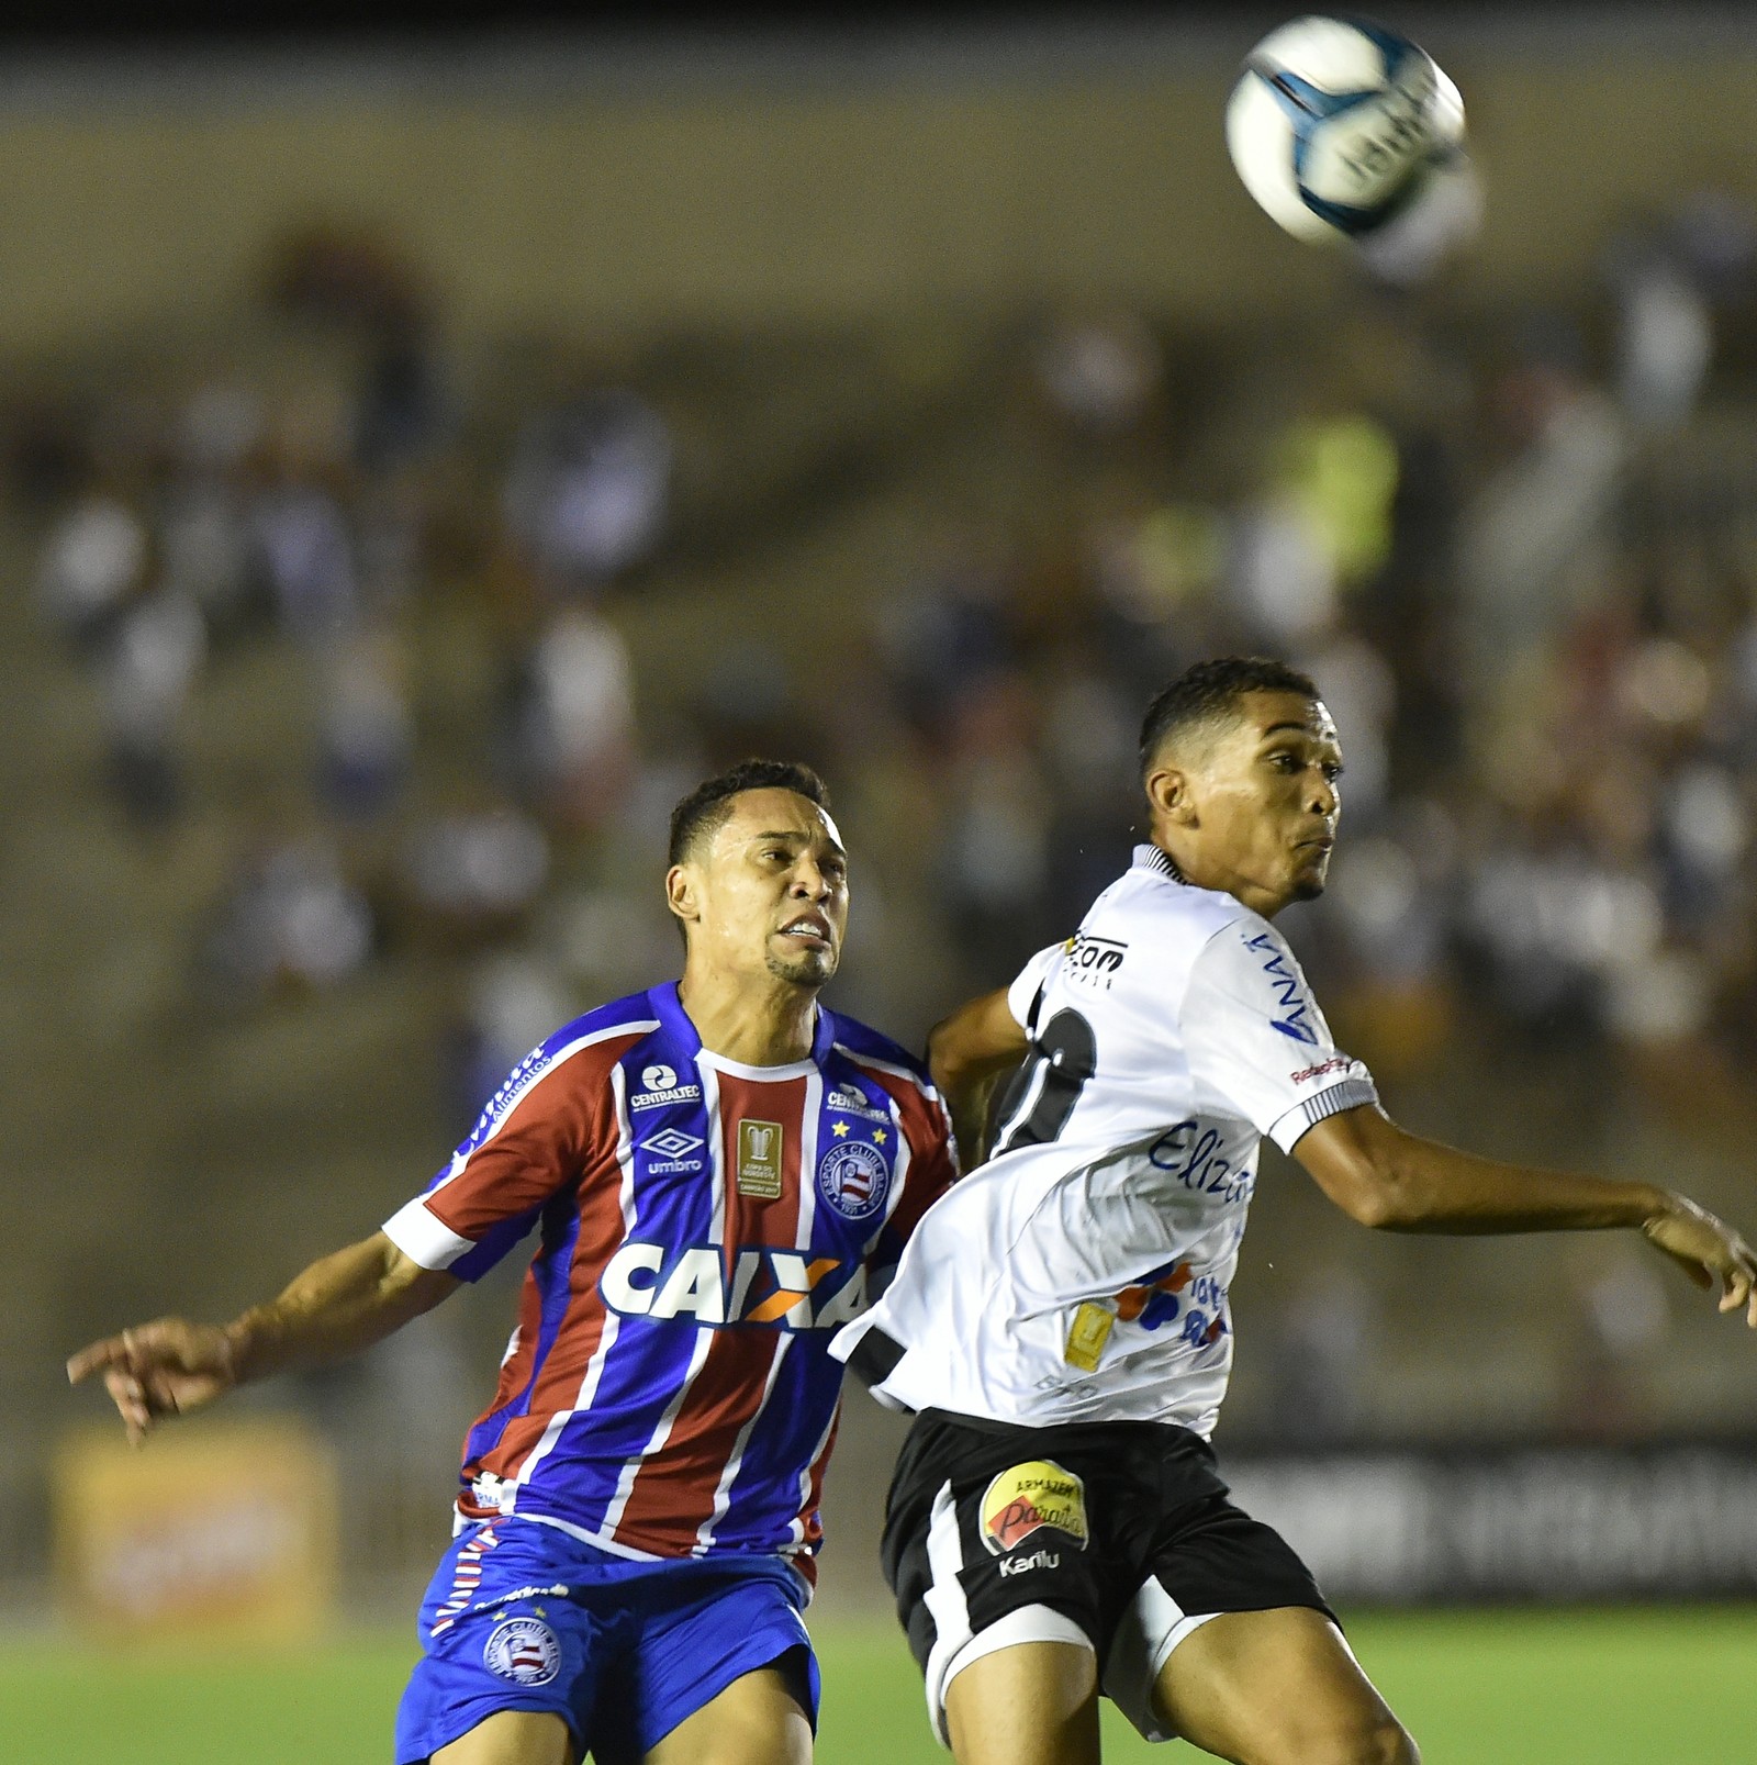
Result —
[[[1226,104],[1245,189],[1295,238],[1364,238],[1464,157],[1464,102],[1432,56],[1365,19],[1297,18]]]

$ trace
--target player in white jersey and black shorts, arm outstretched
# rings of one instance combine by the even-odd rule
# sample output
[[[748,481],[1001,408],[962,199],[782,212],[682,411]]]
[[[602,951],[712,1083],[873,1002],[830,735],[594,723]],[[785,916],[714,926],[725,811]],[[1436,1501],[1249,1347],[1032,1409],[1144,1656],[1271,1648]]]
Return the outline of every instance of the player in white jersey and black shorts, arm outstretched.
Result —
[[[917,1412],[884,1560],[960,1765],[1095,1761],[1099,1689],[1238,1765],[1417,1756],[1208,1447],[1261,1135],[1362,1225],[1639,1230],[1757,1327],[1752,1248],[1681,1195],[1491,1163],[1383,1114],[1270,927],[1323,890],[1341,773],[1302,674],[1193,667],[1147,713],[1133,868],[930,1041],[961,1128],[1023,1066],[990,1163],[833,1350]]]

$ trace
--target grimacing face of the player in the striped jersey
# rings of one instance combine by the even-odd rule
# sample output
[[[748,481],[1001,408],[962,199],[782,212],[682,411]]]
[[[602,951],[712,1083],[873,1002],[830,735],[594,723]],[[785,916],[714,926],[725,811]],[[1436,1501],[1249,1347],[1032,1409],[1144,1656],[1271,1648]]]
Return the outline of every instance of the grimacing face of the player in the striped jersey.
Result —
[[[849,927],[849,854],[836,824],[794,791],[741,791],[693,870],[700,955],[822,987]]]

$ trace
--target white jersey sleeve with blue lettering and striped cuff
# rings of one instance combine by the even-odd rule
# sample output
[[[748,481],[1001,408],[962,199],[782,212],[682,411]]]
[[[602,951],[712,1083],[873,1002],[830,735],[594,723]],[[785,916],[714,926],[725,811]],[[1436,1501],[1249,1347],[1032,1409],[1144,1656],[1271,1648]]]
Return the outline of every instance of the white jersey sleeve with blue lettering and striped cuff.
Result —
[[[1191,969],[1184,1047],[1207,1107],[1242,1115],[1284,1153],[1327,1115],[1376,1103],[1342,1054],[1284,937],[1263,920],[1217,932]]]

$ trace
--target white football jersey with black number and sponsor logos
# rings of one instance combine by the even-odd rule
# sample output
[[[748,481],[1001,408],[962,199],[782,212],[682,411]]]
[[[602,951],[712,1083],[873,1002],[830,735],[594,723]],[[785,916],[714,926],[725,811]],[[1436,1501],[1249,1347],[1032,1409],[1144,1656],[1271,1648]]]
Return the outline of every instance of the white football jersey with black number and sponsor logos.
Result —
[[[1155,845],[1007,1003],[1030,1052],[995,1156],[928,1209],[831,1352],[880,1331],[861,1363],[898,1408],[1207,1437],[1261,1137],[1291,1151],[1376,1101],[1372,1077],[1337,1052],[1281,934]]]

